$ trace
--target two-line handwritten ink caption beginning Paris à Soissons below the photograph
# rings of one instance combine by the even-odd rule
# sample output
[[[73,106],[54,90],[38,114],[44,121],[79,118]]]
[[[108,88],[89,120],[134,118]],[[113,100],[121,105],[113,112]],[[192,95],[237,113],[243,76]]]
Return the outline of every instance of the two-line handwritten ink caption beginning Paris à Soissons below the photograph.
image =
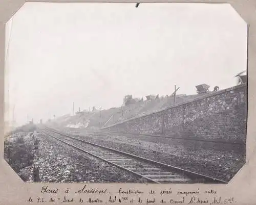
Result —
[[[63,195],[64,194],[64,195]],[[28,203],[38,204],[234,204],[234,197],[222,197],[216,190],[172,190],[161,189],[141,191],[139,189],[122,189],[110,192],[108,189],[94,189],[83,185],[79,190],[50,188],[43,186],[38,197],[28,197]],[[62,195],[62,196],[59,196]]]

